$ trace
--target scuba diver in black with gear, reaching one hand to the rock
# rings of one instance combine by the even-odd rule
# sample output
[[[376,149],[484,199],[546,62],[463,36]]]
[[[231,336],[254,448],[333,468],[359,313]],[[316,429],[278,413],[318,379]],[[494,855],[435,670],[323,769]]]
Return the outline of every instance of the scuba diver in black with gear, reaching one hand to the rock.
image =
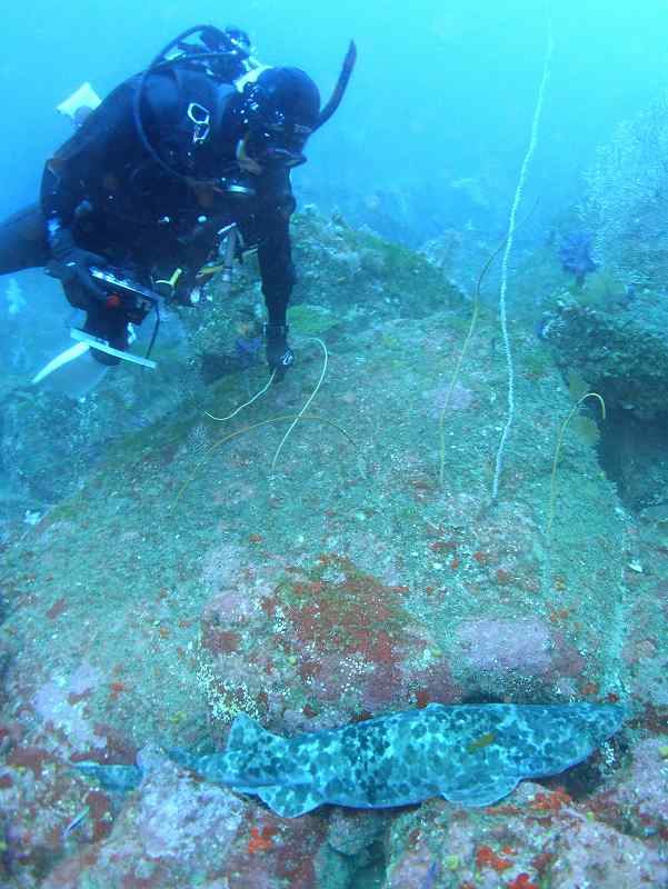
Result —
[[[277,379],[292,364],[290,170],[337,110],[356,48],[322,109],[308,74],[260,64],[251,51],[238,28],[197,26],[98,107],[92,93],[70,109],[78,128],[47,161],[39,204],[0,226],[0,274],[46,266],[86,312],[77,344],[34,381],[89,349],[104,366],[154,367],[128,351],[132,326],[154,311],[152,346],[163,302],[195,304],[210,269],[229,286],[233,260],[252,249],[267,362]]]

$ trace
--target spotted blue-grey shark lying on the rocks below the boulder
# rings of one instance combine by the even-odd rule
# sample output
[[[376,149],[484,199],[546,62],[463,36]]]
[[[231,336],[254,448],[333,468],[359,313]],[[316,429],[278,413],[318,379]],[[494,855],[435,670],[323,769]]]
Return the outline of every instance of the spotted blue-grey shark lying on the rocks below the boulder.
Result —
[[[620,705],[430,703],[283,738],[240,713],[223,752],[170,755],[207,781],[259,797],[283,818],[327,802],[377,809],[436,796],[490,806],[522,779],[581,762],[621,728],[625,715]],[[112,789],[131,789],[142,777],[137,766],[78,768]]]

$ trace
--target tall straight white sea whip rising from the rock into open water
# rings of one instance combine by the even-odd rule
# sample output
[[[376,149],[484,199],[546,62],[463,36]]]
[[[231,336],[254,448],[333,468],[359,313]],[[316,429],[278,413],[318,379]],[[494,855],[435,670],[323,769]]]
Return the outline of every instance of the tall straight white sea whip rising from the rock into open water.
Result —
[[[504,462],[504,450],[506,448],[506,442],[508,441],[510,427],[512,426],[512,421],[515,419],[515,368],[512,367],[512,352],[510,351],[510,338],[508,336],[508,319],[506,317],[506,291],[508,289],[508,257],[510,256],[510,251],[512,249],[512,238],[515,236],[517,210],[521,201],[522,189],[525,187],[525,181],[527,179],[527,170],[529,169],[529,163],[531,162],[531,158],[534,157],[534,151],[536,150],[536,144],[538,142],[538,124],[540,123],[540,113],[542,111],[545,88],[547,86],[547,81],[550,74],[550,62],[552,59],[554,48],[555,48],[555,41],[552,38],[552,27],[550,20],[548,30],[548,42],[545,51],[545,62],[542,66],[542,80],[540,81],[540,89],[538,91],[538,99],[536,101],[536,110],[534,111],[534,122],[531,123],[531,138],[529,140],[529,148],[527,149],[527,153],[525,154],[525,160],[522,162],[519,172],[519,179],[517,182],[517,188],[515,190],[515,199],[512,201],[512,207],[510,208],[510,218],[508,221],[508,238],[506,240],[506,249],[504,250],[504,259],[501,260],[501,290],[499,293],[499,314],[501,318],[504,351],[506,353],[506,362],[508,364],[508,418],[506,420],[506,426],[504,427],[504,431],[501,433],[499,450],[497,451],[497,463],[495,467],[493,485],[491,492],[493,501],[496,501],[499,493],[499,479],[501,476],[501,468]]]

